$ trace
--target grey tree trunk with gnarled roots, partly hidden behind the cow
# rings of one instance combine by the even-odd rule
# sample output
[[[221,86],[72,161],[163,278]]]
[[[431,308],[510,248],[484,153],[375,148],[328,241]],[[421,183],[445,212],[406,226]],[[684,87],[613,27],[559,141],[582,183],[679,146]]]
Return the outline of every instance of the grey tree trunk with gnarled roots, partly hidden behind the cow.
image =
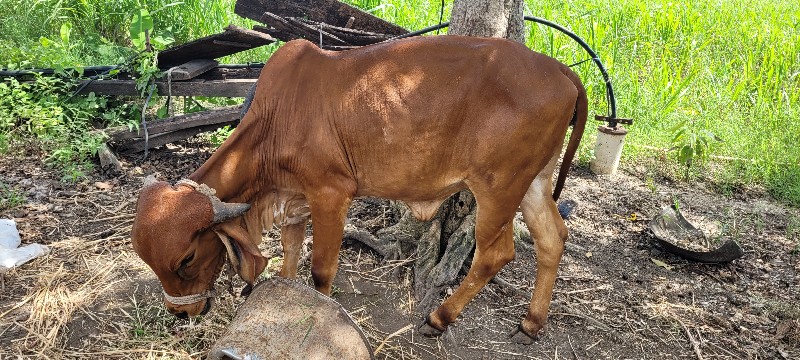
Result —
[[[503,37],[525,41],[522,0],[456,0],[450,21],[451,35]],[[400,221],[377,233],[381,254],[389,258],[397,249],[416,246],[414,289],[419,300],[417,310],[426,312],[439,302],[442,290],[456,283],[465,262],[475,249],[475,213],[477,204],[469,191],[446,200],[433,220],[419,222],[402,203],[392,202]],[[516,223],[516,221],[515,221]],[[525,226],[515,224],[515,238],[530,242]],[[522,230],[526,229],[526,230]],[[370,246],[372,246],[370,244]]]

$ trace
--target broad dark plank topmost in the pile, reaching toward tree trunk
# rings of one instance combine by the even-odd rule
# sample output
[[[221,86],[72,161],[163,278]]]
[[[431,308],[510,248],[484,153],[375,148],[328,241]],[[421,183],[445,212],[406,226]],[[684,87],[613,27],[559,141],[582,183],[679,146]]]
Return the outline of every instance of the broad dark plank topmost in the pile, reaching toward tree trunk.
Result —
[[[269,25],[272,24],[262,18],[265,12],[284,18],[324,22],[342,28],[348,27],[348,23],[352,21],[350,28],[381,34],[408,33],[402,27],[336,0],[238,0],[233,11],[239,16]]]

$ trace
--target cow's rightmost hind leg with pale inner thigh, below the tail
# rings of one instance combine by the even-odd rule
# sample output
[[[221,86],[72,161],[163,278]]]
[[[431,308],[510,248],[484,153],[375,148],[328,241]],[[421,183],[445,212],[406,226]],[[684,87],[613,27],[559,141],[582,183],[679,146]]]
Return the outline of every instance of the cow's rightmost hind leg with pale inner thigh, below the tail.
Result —
[[[522,216],[531,231],[536,248],[536,283],[528,314],[512,332],[512,340],[531,344],[547,323],[547,312],[553,295],[556,271],[567,240],[567,227],[552,197],[554,159],[533,181],[522,200]]]

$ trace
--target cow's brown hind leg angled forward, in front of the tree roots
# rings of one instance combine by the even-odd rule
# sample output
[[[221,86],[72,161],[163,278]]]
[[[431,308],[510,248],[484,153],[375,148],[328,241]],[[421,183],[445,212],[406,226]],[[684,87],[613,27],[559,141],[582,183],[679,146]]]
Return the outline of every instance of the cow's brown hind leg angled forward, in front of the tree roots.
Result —
[[[475,256],[469,273],[456,291],[434,310],[419,331],[423,335],[438,336],[456,318],[475,295],[514,259],[512,219],[516,204],[475,192],[478,214],[475,222]]]

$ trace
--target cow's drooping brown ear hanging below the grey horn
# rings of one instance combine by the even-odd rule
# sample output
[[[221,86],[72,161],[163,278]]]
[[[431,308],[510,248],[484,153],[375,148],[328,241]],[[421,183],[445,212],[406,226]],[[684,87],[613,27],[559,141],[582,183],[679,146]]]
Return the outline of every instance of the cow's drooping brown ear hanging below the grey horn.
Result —
[[[261,255],[258,246],[250,241],[247,231],[235,222],[219,224],[214,231],[225,244],[236,273],[252,288],[256,277],[267,267],[267,259]]]

